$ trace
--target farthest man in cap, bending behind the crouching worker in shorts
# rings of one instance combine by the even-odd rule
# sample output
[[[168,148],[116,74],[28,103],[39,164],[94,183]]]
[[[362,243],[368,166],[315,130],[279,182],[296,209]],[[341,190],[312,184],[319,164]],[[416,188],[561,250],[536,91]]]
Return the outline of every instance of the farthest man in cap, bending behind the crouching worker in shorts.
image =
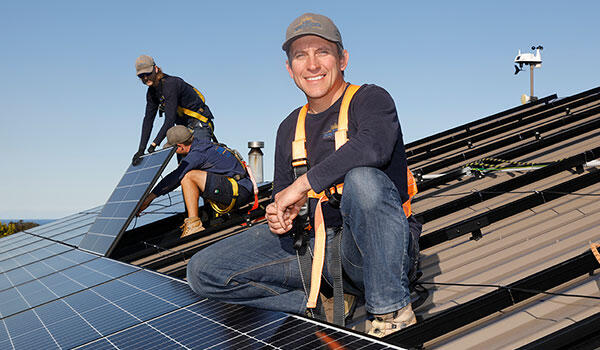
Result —
[[[164,140],[167,130],[174,125],[187,126],[194,131],[194,138],[197,139],[210,140],[213,137],[213,115],[200,91],[179,77],[163,73],[154,59],[147,55],[136,59],[135,70],[142,83],[148,86],[148,92],[142,137],[132,159],[133,165],[139,164],[140,157],[144,155],[157,111],[160,111],[161,116],[164,114],[165,120],[148,147],[148,153],[154,152]]]

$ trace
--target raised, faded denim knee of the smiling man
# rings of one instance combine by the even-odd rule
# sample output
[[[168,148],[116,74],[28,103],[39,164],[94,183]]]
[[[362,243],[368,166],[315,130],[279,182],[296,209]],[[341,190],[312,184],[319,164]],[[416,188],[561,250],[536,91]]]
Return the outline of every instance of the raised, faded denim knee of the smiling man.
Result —
[[[359,167],[350,170],[344,178],[344,201],[356,201],[364,210],[376,209],[390,182],[387,175],[377,168]]]

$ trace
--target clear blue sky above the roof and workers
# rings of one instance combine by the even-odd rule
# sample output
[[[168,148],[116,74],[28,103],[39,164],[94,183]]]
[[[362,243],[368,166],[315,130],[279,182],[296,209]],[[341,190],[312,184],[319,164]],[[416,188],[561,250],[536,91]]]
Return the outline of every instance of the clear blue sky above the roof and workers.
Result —
[[[103,204],[140,137],[140,54],[200,89],[220,140],[265,141],[305,103],[285,70],[287,25],[331,17],[347,80],[394,97],[405,142],[518,105],[517,50],[544,46],[537,96],[600,85],[598,1],[3,1],[0,218],[58,218]],[[154,132],[162,119],[157,118]]]

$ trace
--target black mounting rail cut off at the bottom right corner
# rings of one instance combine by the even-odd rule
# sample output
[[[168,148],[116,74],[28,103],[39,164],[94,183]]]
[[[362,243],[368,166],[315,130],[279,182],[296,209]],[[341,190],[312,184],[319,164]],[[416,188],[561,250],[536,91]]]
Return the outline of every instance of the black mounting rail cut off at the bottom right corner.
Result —
[[[600,347],[600,313],[524,345],[517,350],[598,349]]]

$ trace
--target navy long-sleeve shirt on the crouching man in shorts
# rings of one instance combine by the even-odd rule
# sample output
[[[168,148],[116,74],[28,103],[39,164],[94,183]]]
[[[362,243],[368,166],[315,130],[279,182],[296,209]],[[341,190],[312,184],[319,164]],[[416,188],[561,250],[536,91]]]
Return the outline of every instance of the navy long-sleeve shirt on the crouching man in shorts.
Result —
[[[152,193],[158,197],[173,191],[190,170],[204,170],[228,177],[246,174],[237,158],[223,147],[210,141],[194,139],[190,152],[181,160],[177,169],[165,176]],[[238,184],[252,193],[252,182],[248,177],[238,181]]]

